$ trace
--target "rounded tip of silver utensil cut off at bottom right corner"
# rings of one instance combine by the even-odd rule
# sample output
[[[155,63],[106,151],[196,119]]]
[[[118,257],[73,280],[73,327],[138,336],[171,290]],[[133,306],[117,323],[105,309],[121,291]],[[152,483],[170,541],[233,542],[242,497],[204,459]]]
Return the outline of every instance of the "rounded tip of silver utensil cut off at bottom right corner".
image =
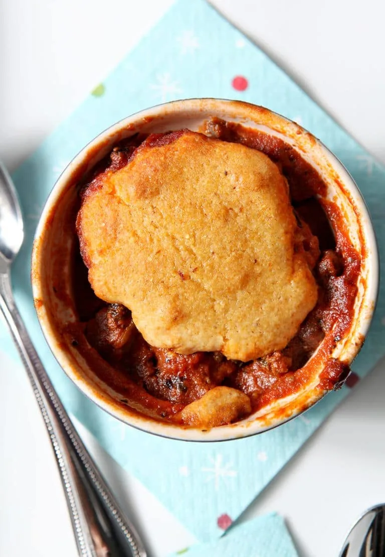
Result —
[[[357,520],[339,557],[385,557],[385,504],[372,507]]]

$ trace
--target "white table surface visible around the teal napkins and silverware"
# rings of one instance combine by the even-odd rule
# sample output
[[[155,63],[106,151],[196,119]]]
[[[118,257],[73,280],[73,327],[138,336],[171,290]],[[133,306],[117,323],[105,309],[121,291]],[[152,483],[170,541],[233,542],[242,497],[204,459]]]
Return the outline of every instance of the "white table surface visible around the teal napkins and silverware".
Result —
[[[33,152],[171,3],[0,0],[0,158],[9,169]],[[385,163],[382,0],[212,3]],[[385,501],[384,393],[385,361],[354,388],[243,518],[279,511],[302,557],[337,556],[357,515]],[[152,557],[194,541],[79,429]],[[0,447],[0,555],[75,557],[42,418],[21,366],[4,355]]]

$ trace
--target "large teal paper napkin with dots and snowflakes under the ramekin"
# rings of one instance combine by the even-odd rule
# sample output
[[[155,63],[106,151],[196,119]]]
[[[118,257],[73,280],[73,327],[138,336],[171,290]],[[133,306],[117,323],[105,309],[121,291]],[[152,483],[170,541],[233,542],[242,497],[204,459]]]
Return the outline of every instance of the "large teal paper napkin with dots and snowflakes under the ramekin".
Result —
[[[298,121],[342,160],[372,213],[385,255],[385,170],[263,52],[203,0],[179,0],[41,147],[13,174],[26,217],[26,242],[13,270],[17,304],[68,411],[201,540],[223,534],[347,395],[331,393],[304,416],[259,436],[224,443],[186,443],[125,426],[84,397],[58,367],[37,323],[29,285],[32,237],[61,170],[96,134],[159,102],[225,97],[261,104]],[[385,353],[383,282],[371,332],[353,379]],[[5,329],[2,350],[16,351]],[[353,382],[351,379],[351,384]],[[21,379],[21,380],[24,380]]]

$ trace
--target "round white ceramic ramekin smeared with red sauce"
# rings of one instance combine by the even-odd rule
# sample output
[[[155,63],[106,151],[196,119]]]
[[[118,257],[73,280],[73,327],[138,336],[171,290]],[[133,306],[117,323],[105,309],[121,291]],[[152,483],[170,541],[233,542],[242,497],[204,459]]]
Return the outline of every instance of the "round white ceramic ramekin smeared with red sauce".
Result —
[[[325,394],[325,390],[317,386],[323,370],[322,361],[314,365],[312,377],[298,393],[275,400],[243,421],[215,427],[210,431],[156,421],[138,412],[137,408],[122,404],[121,396],[96,377],[76,347],[62,334],[65,325],[76,320],[71,303],[69,265],[75,231],[73,226],[68,226],[68,211],[74,212],[78,180],[105,157],[118,141],[137,131],[158,133],[180,128],[198,130],[204,121],[213,116],[267,131],[292,145],[322,175],[328,187],[327,199],[337,204],[348,224],[349,239],[361,254],[362,267],[351,327],[335,344],[329,357],[349,364],[357,355],[371,322],[378,289],[376,239],[357,185],[339,160],[320,141],[283,116],[245,102],[189,99],[144,110],[98,135],[72,160],[57,180],[37,227],[32,255],[32,287],[38,319],[47,343],[63,370],[96,404],[131,426],[161,436],[191,441],[223,441],[250,436],[302,413]],[[61,253],[60,257],[57,256],[58,252]],[[61,282],[61,292],[64,289],[66,296],[58,296],[53,289],[52,285],[58,280]],[[322,343],[313,358],[321,347]]]

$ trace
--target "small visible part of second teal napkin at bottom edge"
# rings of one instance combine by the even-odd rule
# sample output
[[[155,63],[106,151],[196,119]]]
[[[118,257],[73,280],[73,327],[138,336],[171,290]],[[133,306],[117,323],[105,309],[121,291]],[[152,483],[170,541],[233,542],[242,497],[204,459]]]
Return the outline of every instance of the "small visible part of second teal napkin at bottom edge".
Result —
[[[231,528],[222,538],[193,545],[169,557],[298,557],[281,516],[260,516]]]

